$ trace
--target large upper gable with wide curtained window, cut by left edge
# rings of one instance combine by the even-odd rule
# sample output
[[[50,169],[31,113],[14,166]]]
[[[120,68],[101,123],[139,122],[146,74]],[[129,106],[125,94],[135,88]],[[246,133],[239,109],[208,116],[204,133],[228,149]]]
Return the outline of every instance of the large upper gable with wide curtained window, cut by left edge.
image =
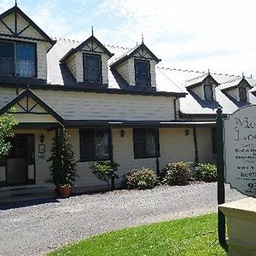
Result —
[[[0,79],[47,79],[46,54],[55,41],[21,9],[0,15]]]

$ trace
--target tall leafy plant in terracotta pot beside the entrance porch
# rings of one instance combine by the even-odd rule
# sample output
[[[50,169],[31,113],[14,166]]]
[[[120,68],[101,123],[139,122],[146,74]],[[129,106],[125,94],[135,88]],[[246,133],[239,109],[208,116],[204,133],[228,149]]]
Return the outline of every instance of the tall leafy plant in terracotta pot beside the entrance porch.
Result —
[[[47,182],[55,184],[62,198],[70,195],[78,176],[76,173],[78,160],[74,156],[72,145],[68,143],[68,137],[69,135],[64,131],[62,139],[60,136],[53,138],[51,156],[48,160],[51,162],[49,167],[51,177]]]

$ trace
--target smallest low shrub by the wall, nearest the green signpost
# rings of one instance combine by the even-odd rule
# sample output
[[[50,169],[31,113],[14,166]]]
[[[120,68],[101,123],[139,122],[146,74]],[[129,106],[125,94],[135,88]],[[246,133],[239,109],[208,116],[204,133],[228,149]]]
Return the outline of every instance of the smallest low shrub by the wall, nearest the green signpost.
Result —
[[[217,166],[213,164],[197,164],[195,166],[195,176],[198,180],[207,183],[217,181]]]

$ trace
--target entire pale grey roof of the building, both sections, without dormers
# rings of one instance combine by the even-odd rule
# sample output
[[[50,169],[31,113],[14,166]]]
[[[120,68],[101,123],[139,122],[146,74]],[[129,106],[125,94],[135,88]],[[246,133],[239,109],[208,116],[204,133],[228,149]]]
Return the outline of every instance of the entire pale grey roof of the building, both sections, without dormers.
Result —
[[[76,48],[79,44],[81,44],[81,42],[64,39],[57,40],[57,43],[47,55],[49,84],[66,86],[76,84],[72,73],[69,72],[65,64],[60,64],[59,61],[70,49]],[[114,54],[108,60],[108,66],[110,66],[113,61],[119,60],[124,55],[131,54],[131,52],[134,51],[134,49],[118,46],[104,46]],[[108,68],[108,89],[136,90],[133,86],[131,88],[114,68]],[[219,86],[216,88],[216,101],[206,101],[201,100],[192,90],[189,90],[188,85],[200,83],[207,77],[208,72],[166,67],[156,67],[155,72],[157,91],[188,93],[186,97],[180,99],[180,111],[184,114],[215,114],[219,106],[223,108],[224,113],[233,113],[237,108],[247,104],[244,102],[236,102],[236,100],[224,91],[224,89],[234,86],[234,84],[239,84],[242,79],[241,76],[211,73],[212,78],[218,82]],[[252,86],[256,84],[256,81],[252,78],[247,78],[247,81]],[[150,88],[148,90],[150,90]],[[251,93],[253,90],[254,88],[250,90],[249,102],[256,103],[256,97]]]

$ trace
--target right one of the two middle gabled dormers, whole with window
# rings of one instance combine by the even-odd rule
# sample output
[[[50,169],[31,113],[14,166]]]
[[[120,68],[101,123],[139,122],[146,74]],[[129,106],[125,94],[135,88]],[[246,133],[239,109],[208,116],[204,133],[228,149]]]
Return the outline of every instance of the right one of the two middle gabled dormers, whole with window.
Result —
[[[148,47],[142,43],[129,50],[110,64],[130,86],[155,88],[155,65],[160,62]]]

